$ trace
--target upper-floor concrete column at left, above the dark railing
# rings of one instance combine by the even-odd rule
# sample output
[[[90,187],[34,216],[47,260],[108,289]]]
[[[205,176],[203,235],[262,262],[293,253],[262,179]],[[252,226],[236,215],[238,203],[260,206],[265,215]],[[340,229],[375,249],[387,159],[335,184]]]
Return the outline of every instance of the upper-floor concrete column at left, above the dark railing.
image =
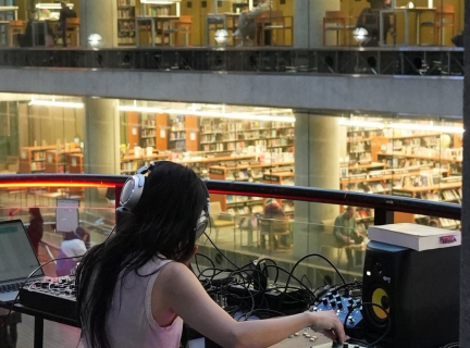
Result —
[[[99,34],[102,47],[118,46],[116,0],[81,0],[81,46],[89,47],[90,34]]]

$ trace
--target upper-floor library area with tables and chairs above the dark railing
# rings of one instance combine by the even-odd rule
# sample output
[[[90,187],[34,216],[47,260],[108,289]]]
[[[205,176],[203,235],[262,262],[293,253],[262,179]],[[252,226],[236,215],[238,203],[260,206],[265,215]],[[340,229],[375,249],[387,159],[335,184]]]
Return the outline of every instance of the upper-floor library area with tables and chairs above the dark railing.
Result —
[[[463,0],[317,2],[1,0],[0,47],[461,46]]]

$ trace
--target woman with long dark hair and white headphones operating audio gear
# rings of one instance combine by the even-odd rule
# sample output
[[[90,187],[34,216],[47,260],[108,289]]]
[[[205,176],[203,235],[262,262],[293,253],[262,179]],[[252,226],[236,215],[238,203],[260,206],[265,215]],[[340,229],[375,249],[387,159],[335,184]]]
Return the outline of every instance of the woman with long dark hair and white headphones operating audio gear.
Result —
[[[332,311],[235,321],[187,266],[209,221],[206,185],[169,161],[137,173],[124,184],[115,235],[76,272],[85,347],[177,348],[183,320],[222,347],[269,347],[307,326],[344,341]]]

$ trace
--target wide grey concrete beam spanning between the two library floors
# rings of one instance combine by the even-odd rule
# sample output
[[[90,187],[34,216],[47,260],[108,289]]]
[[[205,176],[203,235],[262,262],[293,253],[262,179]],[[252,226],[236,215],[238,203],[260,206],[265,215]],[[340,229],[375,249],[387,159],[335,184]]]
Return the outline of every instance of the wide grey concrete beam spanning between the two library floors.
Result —
[[[462,115],[462,77],[0,69],[0,80],[5,92]]]

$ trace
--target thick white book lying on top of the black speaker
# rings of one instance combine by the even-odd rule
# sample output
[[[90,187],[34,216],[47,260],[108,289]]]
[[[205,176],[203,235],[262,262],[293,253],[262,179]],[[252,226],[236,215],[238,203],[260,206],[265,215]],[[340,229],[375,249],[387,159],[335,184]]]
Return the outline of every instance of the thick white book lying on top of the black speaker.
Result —
[[[460,231],[448,231],[410,223],[369,226],[368,237],[370,240],[417,251],[455,247],[461,244]]]

